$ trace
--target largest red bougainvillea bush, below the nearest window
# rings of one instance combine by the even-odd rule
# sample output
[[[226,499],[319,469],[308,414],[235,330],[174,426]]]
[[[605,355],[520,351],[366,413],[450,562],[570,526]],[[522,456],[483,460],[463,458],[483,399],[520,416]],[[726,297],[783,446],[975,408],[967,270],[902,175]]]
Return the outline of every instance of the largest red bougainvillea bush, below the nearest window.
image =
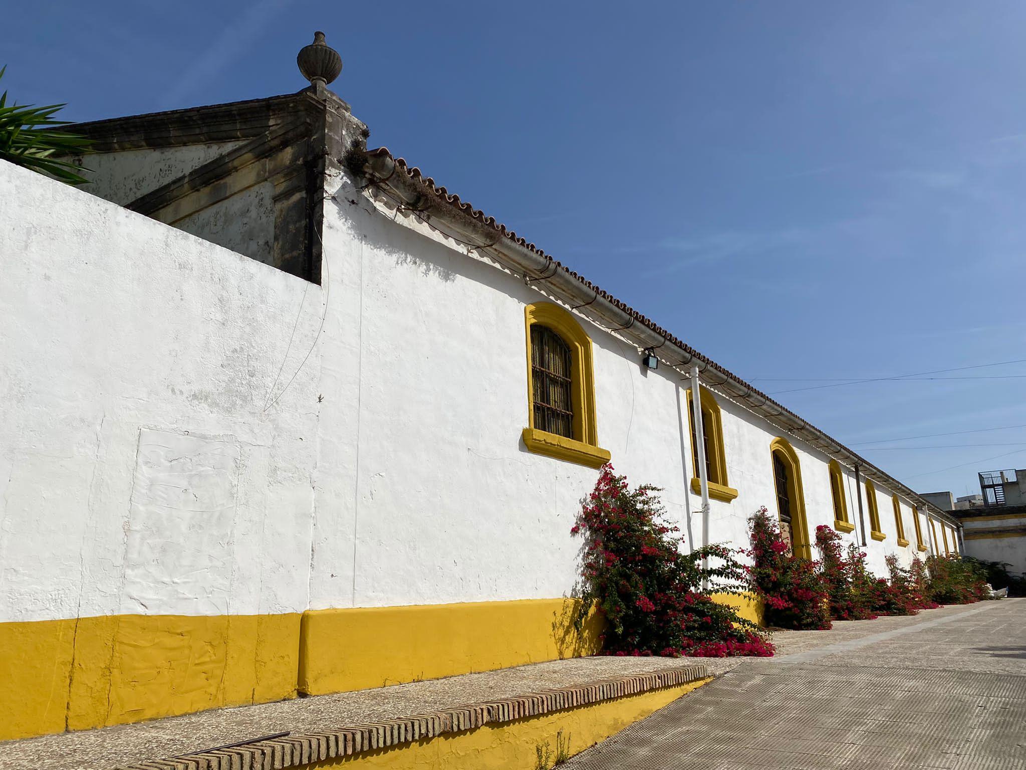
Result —
[[[740,592],[745,568],[720,545],[687,552],[659,499],[602,466],[571,532],[584,538],[578,628],[592,607],[605,616],[613,655],[773,655],[764,631],[714,602],[703,584]],[[703,567],[703,560],[712,566]]]

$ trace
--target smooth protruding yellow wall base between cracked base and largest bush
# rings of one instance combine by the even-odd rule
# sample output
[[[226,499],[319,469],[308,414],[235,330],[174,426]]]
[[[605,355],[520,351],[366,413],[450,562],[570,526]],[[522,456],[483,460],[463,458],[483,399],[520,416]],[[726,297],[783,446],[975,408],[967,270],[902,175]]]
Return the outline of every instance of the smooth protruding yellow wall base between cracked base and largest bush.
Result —
[[[322,695],[488,671],[598,651],[564,599],[315,610],[303,614],[300,690]]]

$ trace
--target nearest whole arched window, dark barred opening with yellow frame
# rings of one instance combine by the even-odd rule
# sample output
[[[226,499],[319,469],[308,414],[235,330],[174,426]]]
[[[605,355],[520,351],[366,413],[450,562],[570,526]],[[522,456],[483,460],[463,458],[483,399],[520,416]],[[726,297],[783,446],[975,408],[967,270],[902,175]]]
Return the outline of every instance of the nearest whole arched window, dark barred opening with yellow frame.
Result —
[[[550,302],[524,309],[530,452],[597,468],[609,461],[595,424],[591,339],[574,315]]]

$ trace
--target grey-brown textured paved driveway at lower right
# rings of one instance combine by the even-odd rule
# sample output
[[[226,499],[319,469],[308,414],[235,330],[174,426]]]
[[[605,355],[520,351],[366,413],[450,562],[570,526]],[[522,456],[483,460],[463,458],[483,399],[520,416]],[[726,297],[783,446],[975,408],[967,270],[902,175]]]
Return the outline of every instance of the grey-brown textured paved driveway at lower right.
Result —
[[[565,770],[1026,769],[1026,599],[775,634]]]

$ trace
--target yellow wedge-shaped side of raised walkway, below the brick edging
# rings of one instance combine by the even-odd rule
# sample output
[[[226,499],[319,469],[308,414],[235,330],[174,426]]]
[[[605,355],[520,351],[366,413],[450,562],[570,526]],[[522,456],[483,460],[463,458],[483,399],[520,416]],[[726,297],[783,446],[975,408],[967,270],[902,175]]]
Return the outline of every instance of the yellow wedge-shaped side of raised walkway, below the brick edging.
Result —
[[[353,767],[360,770],[428,770],[439,767],[446,770],[535,770],[538,766],[539,746],[544,753],[548,745],[551,750],[551,766],[556,760],[557,742],[567,745],[567,755],[573,757],[711,681],[710,677],[679,687],[668,687],[495,726],[485,725],[477,730],[451,733],[306,767]]]

